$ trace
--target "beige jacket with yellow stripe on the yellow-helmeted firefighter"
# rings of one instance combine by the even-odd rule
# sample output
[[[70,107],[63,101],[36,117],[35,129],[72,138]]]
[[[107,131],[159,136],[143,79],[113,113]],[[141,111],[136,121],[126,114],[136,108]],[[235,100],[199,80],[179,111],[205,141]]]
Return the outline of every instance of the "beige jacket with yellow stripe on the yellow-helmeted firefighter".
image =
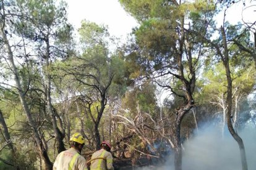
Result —
[[[65,150],[57,156],[53,170],[87,170],[85,158],[75,148]]]

